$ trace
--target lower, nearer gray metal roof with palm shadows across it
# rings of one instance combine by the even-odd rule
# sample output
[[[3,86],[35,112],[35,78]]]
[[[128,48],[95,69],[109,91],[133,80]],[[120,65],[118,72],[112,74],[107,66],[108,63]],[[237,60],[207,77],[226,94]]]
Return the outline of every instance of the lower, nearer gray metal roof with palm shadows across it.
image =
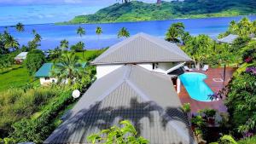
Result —
[[[89,143],[86,137],[128,119],[154,144],[195,143],[169,76],[137,65],[99,78],[44,143]]]

